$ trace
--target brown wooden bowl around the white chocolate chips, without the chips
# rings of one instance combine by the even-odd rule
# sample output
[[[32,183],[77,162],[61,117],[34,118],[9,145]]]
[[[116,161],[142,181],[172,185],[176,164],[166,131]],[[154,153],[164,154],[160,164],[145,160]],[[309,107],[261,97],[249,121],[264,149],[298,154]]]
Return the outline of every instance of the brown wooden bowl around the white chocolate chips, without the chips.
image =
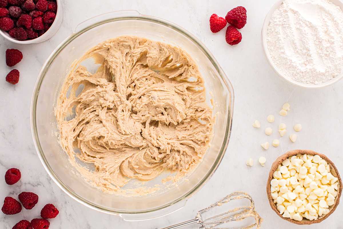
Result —
[[[337,194],[337,196],[335,198],[335,204],[329,207],[330,211],[329,211],[328,214],[326,214],[324,216],[321,216],[321,217],[318,217],[318,219],[316,219],[316,220],[310,221],[310,220],[304,218],[301,221],[297,221],[297,220],[290,219],[290,218],[284,218],[284,217],[282,217],[280,212],[276,209],[276,205],[273,203],[273,199],[272,199],[272,195],[271,195],[271,191],[270,191],[270,187],[271,187],[270,181],[273,179],[273,174],[274,174],[275,170],[277,169],[277,166],[279,164],[281,164],[286,158],[289,158],[289,157],[297,155],[297,154],[319,155],[322,159],[326,160],[328,162],[328,164],[330,164],[330,166],[331,166],[331,171],[330,171],[331,174],[338,178],[339,187],[338,187],[338,190],[337,190],[338,194]],[[292,151],[288,151],[288,152],[284,153],[282,156],[278,157],[274,161],[274,163],[272,164],[272,168],[270,169],[269,178],[268,178],[268,182],[267,182],[267,195],[268,195],[268,200],[269,200],[269,204],[270,204],[271,208],[282,219],[287,220],[288,222],[292,222],[293,224],[309,225],[309,224],[318,224],[318,223],[320,223],[324,219],[328,218],[336,210],[336,208],[337,208],[337,206],[338,206],[338,204],[340,202],[340,197],[341,197],[341,194],[342,194],[342,187],[343,187],[343,185],[342,185],[341,176],[338,173],[338,170],[337,170],[335,164],[327,156],[325,156],[324,154],[321,154],[321,153],[317,153],[317,152],[312,151],[312,150],[300,150],[300,149],[297,149],[297,150],[292,150]]]

